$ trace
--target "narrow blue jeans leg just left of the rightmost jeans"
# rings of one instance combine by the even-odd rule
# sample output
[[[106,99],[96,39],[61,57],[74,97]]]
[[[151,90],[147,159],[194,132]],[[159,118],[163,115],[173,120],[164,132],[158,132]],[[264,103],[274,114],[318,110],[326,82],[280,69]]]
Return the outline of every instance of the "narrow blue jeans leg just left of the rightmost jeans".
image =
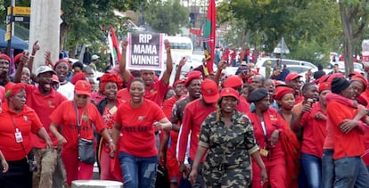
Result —
[[[334,150],[324,150],[322,159],[322,188],[332,188],[334,184]]]

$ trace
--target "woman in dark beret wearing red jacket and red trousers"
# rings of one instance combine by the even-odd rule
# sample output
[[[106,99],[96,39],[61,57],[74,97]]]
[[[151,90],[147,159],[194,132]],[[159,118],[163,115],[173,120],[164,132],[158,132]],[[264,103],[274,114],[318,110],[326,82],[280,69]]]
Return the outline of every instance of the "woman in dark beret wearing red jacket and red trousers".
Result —
[[[286,164],[284,152],[279,139],[283,134],[286,122],[278,111],[270,108],[269,94],[266,89],[258,88],[249,95],[249,102],[255,103],[255,110],[247,115],[253,123],[254,135],[260,147],[261,159],[266,165],[266,173],[272,188],[287,187]],[[252,187],[267,187],[260,184],[260,168],[255,161],[252,162]]]

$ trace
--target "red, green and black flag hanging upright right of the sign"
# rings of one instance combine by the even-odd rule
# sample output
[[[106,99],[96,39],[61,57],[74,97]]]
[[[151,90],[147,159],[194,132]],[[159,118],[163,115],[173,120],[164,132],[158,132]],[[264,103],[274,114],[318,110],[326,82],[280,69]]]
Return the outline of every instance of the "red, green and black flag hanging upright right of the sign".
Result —
[[[209,0],[208,15],[203,29],[203,45],[206,67],[209,73],[213,72],[215,42],[216,42],[216,4],[215,0]]]

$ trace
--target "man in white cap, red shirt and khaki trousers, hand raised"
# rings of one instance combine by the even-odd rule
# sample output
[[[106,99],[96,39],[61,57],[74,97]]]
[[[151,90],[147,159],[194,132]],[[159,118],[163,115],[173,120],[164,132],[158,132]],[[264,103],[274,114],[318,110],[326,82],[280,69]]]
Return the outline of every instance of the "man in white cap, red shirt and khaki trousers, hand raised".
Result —
[[[20,62],[18,70],[23,69],[24,63],[24,61]],[[66,101],[67,98],[53,90],[53,74],[55,74],[55,72],[50,67],[45,65],[40,66],[36,71],[38,86],[25,85],[25,91],[27,94],[27,105],[36,111],[56,148],[58,143],[56,138],[50,133],[49,127],[51,119],[49,116],[52,114],[53,110],[55,110],[61,102]],[[19,76],[20,75],[18,75],[18,77]],[[14,80],[19,81],[20,78],[16,77]],[[33,187],[52,187],[57,151],[50,151],[50,149],[47,149],[45,147],[45,141],[40,139],[37,135],[32,134],[31,138],[35,159],[40,166],[39,170],[33,174]]]

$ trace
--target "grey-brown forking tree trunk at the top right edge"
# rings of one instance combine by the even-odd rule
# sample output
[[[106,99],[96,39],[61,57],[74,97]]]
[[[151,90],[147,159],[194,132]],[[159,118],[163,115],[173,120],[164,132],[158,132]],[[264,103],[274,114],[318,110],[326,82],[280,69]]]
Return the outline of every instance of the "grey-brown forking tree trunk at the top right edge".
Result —
[[[354,70],[352,63],[353,44],[357,38],[360,38],[369,19],[368,0],[361,1],[340,1],[340,17],[342,20],[342,29],[344,33],[344,57],[345,57],[345,72]]]

